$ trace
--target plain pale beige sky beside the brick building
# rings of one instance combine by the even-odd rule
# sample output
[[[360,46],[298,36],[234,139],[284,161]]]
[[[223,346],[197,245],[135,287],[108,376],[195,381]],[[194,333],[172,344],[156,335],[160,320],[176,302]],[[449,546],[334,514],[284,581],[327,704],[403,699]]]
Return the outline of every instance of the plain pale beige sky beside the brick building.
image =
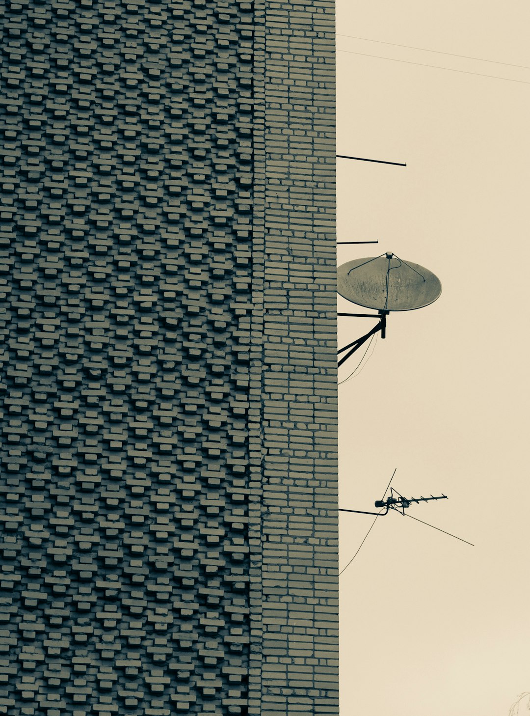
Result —
[[[338,0],[337,16],[341,34],[530,67],[526,1]],[[408,164],[338,160],[339,240],[380,242],[339,263],[393,251],[443,285],[391,314],[339,388],[340,503],[370,510],[397,467],[402,494],[449,497],[413,516],[476,543],[378,519],[340,577],[341,715],[504,716],[530,690],[530,69],[337,47],[364,53],[337,54],[338,153]],[[340,320],[341,345],[373,325]],[[342,566],[371,521],[340,517]]]

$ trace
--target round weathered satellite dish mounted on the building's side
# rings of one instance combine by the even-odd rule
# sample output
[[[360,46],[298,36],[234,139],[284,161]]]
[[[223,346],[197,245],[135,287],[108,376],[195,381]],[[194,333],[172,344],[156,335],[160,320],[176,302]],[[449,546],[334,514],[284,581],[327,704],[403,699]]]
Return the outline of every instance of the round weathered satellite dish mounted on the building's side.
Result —
[[[340,296],[377,311],[421,309],[441,294],[437,276],[392,253],[343,263],[338,267],[337,278]]]

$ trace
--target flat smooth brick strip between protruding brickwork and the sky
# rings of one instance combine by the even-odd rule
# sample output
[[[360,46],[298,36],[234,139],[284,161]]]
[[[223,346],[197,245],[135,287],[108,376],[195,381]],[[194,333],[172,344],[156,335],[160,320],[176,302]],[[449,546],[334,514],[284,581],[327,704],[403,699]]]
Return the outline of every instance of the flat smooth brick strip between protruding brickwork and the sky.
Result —
[[[252,713],[337,714],[334,4],[268,1],[262,10],[262,623],[252,632],[262,661]]]

